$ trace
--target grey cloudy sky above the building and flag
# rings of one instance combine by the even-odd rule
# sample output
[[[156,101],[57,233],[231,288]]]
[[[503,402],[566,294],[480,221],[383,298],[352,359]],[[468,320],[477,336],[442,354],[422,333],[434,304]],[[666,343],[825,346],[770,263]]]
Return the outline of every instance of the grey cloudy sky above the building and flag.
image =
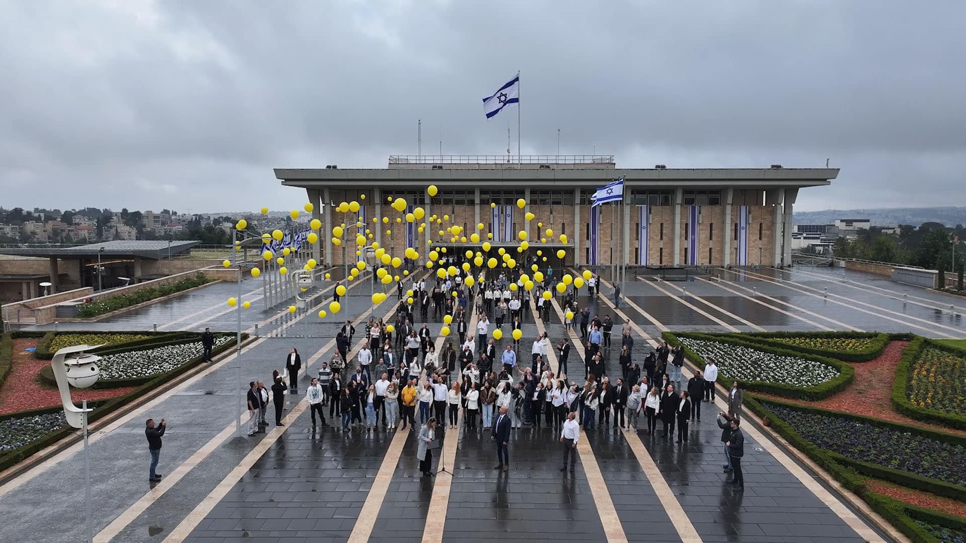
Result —
[[[624,167],[831,157],[797,210],[964,205],[963,20],[941,0],[0,2],[0,205],[290,209],[272,167],[381,167],[417,119],[424,152],[505,153],[516,112],[480,99],[516,71],[524,154],[560,129],[561,154]]]

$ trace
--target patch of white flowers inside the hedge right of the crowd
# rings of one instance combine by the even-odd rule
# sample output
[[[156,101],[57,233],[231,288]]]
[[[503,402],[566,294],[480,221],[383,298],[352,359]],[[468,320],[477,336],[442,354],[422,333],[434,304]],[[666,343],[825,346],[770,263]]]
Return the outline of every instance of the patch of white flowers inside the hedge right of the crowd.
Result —
[[[705,361],[714,358],[727,379],[816,386],[838,376],[836,368],[806,358],[784,357],[720,341],[689,337],[680,340]]]

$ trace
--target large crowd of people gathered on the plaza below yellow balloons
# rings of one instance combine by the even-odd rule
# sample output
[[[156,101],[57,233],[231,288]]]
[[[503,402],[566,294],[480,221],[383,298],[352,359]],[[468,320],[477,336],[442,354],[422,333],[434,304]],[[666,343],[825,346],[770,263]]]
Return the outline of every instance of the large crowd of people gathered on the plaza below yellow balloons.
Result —
[[[625,323],[615,330],[611,315],[601,318],[589,305],[580,305],[576,289],[571,288],[564,291],[561,305],[568,333],[573,331],[581,338],[583,376],[578,378],[568,372],[576,346],[567,337],[554,344],[546,332],[541,333],[532,340],[527,359],[522,334],[513,333],[523,329],[533,306],[534,319],[550,318],[552,303],[543,292],[554,288],[553,269],[548,269],[545,280],[532,292],[523,288],[523,280],[506,272],[490,280],[480,273],[469,286],[468,276],[460,273],[437,278],[435,283],[415,278],[405,284],[399,281],[398,309],[388,323],[370,318],[357,330],[347,321],[336,334],[332,356],[310,377],[305,390],[313,427],[317,418],[327,425],[327,411],[333,423],[341,418],[345,433],[354,428],[365,432],[418,430],[421,460],[432,457],[432,445],[422,444],[435,440],[438,425],[454,429],[462,421],[466,431],[491,434],[497,444],[497,433],[502,435],[504,426],[507,431],[524,426],[554,428],[560,431],[561,440],[566,438],[572,445],[564,451],[565,469],[566,459],[576,450],[575,428],[620,428],[688,443],[690,423],[701,419],[701,404],[714,398],[718,366],[713,359],[703,371],[686,376],[683,349],[664,342],[638,362],[632,325]],[[586,282],[591,300],[599,295],[598,284],[596,277]],[[443,319],[456,334],[442,341],[439,352],[427,326],[430,311],[434,320]],[[472,330],[470,312],[476,315]],[[492,332],[504,327],[510,337],[500,350]],[[611,340],[618,331],[619,341]],[[348,357],[359,332],[365,340],[359,342],[352,360]],[[611,352],[619,353],[619,374],[607,367],[605,353]],[[555,372],[551,353],[557,361]],[[298,394],[301,359],[296,349],[287,355],[284,368],[284,373],[274,372],[271,393],[261,381],[250,384],[249,435],[266,430],[270,398],[275,424],[282,425],[284,395]],[[741,387],[734,383],[728,413],[718,414],[725,443],[723,468],[734,472],[739,488],[744,484],[740,467],[743,438],[738,429],[741,401]],[[502,468],[505,450],[499,453]],[[571,459],[571,469],[573,465]]]

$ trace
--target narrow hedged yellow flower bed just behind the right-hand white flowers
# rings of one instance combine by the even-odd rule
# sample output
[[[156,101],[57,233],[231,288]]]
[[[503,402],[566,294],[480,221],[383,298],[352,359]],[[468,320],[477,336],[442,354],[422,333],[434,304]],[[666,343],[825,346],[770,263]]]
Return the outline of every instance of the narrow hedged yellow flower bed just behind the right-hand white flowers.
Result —
[[[846,362],[865,362],[878,357],[889,343],[889,334],[858,331],[765,331],[726,335]]]

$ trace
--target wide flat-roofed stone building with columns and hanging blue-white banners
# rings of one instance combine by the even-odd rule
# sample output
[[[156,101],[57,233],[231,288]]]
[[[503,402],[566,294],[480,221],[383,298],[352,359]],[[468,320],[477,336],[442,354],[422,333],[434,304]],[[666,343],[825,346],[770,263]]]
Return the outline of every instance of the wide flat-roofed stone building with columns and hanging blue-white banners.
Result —
[[[323,224],[317,257],[327,265],[343,264],[343,250],[331,243],[332,227],[352,222],[351,215],[334,208],[355,200],[373,240],[394,255],[409,246],[425,254],[430,240],[433,246],[478,246],[449,243],[448,234],[440,237],[439,227],[446,224],[418,232],[418,223],[432,214],[446,214],[448,224],[463,226],[467,237],[479,232],[486,240],[492,233],[488,241],[494,248],[515,251],[518,233],[526,231],[530,253],[564,248],[567,266],[786,266],[791,263],[792,209],[799,189],[829,185],[838,176],[838,168],[777,164],[618,168],[612,156],[596,155],[392,156],[385,168],[329,165],[274,172],[283,186],[304,188],[315,206],[313,217]],[[622,202],[590,205],[596,188],[621,178]],[[427,194],[430,185],[439,187],[434,197]],[[404,198],[407,211],[422,207],[426,218],[397,223],[395,217],[401,214],[386,197]],[[521,198],[524,209],[517,207]],[[527,221],[527,213],[535,217]],[[372,218],[383,216],[390,217],[389,224],[374,225]],[[479,223],[484,224],[481,232]],[[538,243],[548,228],[553,239]],[[391,235],[384,233],[387,229]],[[560,243],[560,234],[567,236],[567,243]],[[355,262],[355,250],[347,258]]]

